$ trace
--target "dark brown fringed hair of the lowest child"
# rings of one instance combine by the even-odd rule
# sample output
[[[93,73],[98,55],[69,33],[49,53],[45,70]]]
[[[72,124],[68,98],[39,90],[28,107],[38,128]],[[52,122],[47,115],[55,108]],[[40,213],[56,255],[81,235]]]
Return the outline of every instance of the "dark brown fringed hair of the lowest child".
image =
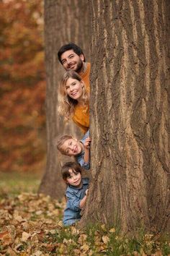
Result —
[[[61,168],[61,174],[63,176],[64,181],[66,181],[66,179],[71,176],[71,174],[69,173],[69,169],[71,169],[74,174],[81,174],[81,166],[79,165],[79,163],[67,162]]]

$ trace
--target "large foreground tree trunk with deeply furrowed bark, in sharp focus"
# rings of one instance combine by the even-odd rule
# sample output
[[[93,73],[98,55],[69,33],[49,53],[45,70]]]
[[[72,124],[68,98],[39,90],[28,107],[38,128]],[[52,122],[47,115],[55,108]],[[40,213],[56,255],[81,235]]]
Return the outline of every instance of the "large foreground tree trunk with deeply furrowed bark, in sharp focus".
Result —
[[[81,225],[169,229],[169,1],[90,1],[91,186]]]

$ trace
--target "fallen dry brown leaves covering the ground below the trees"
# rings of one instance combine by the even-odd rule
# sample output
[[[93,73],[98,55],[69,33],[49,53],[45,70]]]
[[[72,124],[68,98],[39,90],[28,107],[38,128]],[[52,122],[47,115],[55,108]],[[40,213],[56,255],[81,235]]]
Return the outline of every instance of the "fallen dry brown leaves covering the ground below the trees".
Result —
[[[81,231],[63,227],[66,202],[22,193],[0,201],[0,255],[169,255],[169,242],[145,234],[130,241],[104,224]],[[135,241],[135,242],[134,242]],[[163,245],[164,248],[163,248]]]

